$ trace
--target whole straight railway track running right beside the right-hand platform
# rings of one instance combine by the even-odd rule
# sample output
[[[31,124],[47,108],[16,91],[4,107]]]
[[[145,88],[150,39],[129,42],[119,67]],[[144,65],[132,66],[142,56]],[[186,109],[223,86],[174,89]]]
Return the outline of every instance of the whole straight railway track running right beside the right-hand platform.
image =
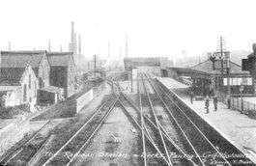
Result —
[[[145,75],[145,77],[147,76]],[[175,121],[185,135],[190,148],[200,161],[199,165],[254,165],[213,127],[192,114],[178,97],[174,97],[173,94],[171,96],[169,91],[163,89],[151,78],[147,77],[147,80],[153,87],[156,96],[161,100],[170,120]],[[237,156],[242,157],[232,157],[234,152],[237,153]]]

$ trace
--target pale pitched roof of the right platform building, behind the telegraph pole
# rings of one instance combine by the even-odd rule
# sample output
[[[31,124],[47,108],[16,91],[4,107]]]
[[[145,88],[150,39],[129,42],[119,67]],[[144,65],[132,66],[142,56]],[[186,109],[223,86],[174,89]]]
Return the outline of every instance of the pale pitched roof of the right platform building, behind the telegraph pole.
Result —
[[[200,70],[208,73],[220,73],[220,71],[213,70],[213,62],[211,60],[206,60],[202,63],[199,63],[191,67],[190,69],[196,69],[196,70]],[[230,73],[249,74],[248,71],[243,71],[240,65],[231,61],[230,61]]]

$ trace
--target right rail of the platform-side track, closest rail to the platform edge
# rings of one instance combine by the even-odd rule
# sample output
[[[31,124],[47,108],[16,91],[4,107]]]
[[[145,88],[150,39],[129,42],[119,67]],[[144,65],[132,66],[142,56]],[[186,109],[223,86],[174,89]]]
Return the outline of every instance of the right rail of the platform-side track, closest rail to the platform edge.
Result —
[[[149,82],[150,82],[150,81],[149,81]],[[151,84],[152,84],[152,83],[151,83]],[[154,85],[152,85],[152,86],[154,87]],[[160,86],[158,86],[158,87],[159,87],[159,89],[161,89],[162,92],[164,92]],[[178,108],[178,110],[179,110],[182,114],[185,115],[185,112],[182,110],[182,108],[181,108],[177,103],[175,103],[175,102],[173,101],[173,99],[172,99],[171,97],[169,97],[168,94],[166,94],[166,93],[164,93],[164,94],[165,94],[165,95],[169,98],[169,100]],[[224,161],[225,161],[228,165],[231,166],[231,163],[225,158],[225,156],[224,156],[221,152],[219,152],[219,151],[214,147],[213,143],[207,138],[207,136],[201,131],[201,129],[198,128],[198,126],[197,126],[196,124],[194,124],[194,123],[190,120],[190,118],[187,117],[186,115],[185,115],[185,118],[186,118],[186,119],[197,129],[197,131],[206,139],[206,141],[211,145],[211,147],[213,148],[213,150],[214,150],[215,152],[217,152],[217,153],[221,156],[221,158],[224,159]]]

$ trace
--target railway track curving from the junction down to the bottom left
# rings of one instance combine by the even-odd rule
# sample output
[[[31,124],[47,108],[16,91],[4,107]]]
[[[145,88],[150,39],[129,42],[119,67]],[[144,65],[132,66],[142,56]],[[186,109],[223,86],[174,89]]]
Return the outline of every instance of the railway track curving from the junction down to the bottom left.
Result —
[[[100,108],[83,124],[71,138],[43,163],[46,165],[71,165],[82,149],[86,148],[92,138],[95,136],[100,126],[113,110],[118,97],[104,102]]]

